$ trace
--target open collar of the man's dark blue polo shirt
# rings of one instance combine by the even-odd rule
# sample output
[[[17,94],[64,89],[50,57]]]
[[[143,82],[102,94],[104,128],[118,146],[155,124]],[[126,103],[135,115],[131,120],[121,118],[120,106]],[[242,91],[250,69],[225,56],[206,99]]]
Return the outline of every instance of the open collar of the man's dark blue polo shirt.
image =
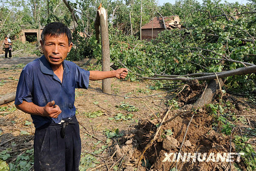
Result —
[[[52,75],[52,76],[54,75],[52,67],[50,66],[49,62],[47,61],[47,59],[45,58],[44,55],[40,57],[39,62],[40,62],[40,67],[41,67],[41,72],[42,73],[49,74],[49,75]],[[63,61],[63,67],[64,67],[63,69],[64,69],[65,74],[70,72],[70,69],[67,66],[67,61],[66,60]]]

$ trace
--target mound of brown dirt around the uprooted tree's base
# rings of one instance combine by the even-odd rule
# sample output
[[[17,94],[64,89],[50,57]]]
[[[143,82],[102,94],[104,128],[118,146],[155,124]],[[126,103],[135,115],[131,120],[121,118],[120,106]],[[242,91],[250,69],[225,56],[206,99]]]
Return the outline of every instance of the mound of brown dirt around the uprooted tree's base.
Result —
[[[194,103],[203,90],[204,84],[192,81],[179,93],[179,106]],[[176,112],[176,110],[170,112],[166,120],[175,116]],[[135,132],[123,137],[119,145],[115,146],[117,159],[123,158],[125,161],[123,162],[125,171],[133,171],[137,168],[137,163],[140,163],[140,171],[170,171],[175,170],[176,164],[177,168],[183,171],[228,171],[230,165],[225,160],[225,155],[230,152],[230,137],[212,129],[213,118],[205,107],[198,109],[194,114],[185,138],[184,135],[193,112],[186,112],[163,125],[154,144],[145,152],[143,160],[138,162],[143,150],[157,131],[157,125],[153,121],[141,120],[133,129]],[[180,149],[181,143],[183,146]],[[233,143],[231,147],[231,152],[236,153]],[[215,162],[216,157],[218,157],[218,162]],[[244,168],[242,160],[237,162],[237,157],[234,156],[234,162],[240,168]],[[231,170],[235,170],[233,162]]]

